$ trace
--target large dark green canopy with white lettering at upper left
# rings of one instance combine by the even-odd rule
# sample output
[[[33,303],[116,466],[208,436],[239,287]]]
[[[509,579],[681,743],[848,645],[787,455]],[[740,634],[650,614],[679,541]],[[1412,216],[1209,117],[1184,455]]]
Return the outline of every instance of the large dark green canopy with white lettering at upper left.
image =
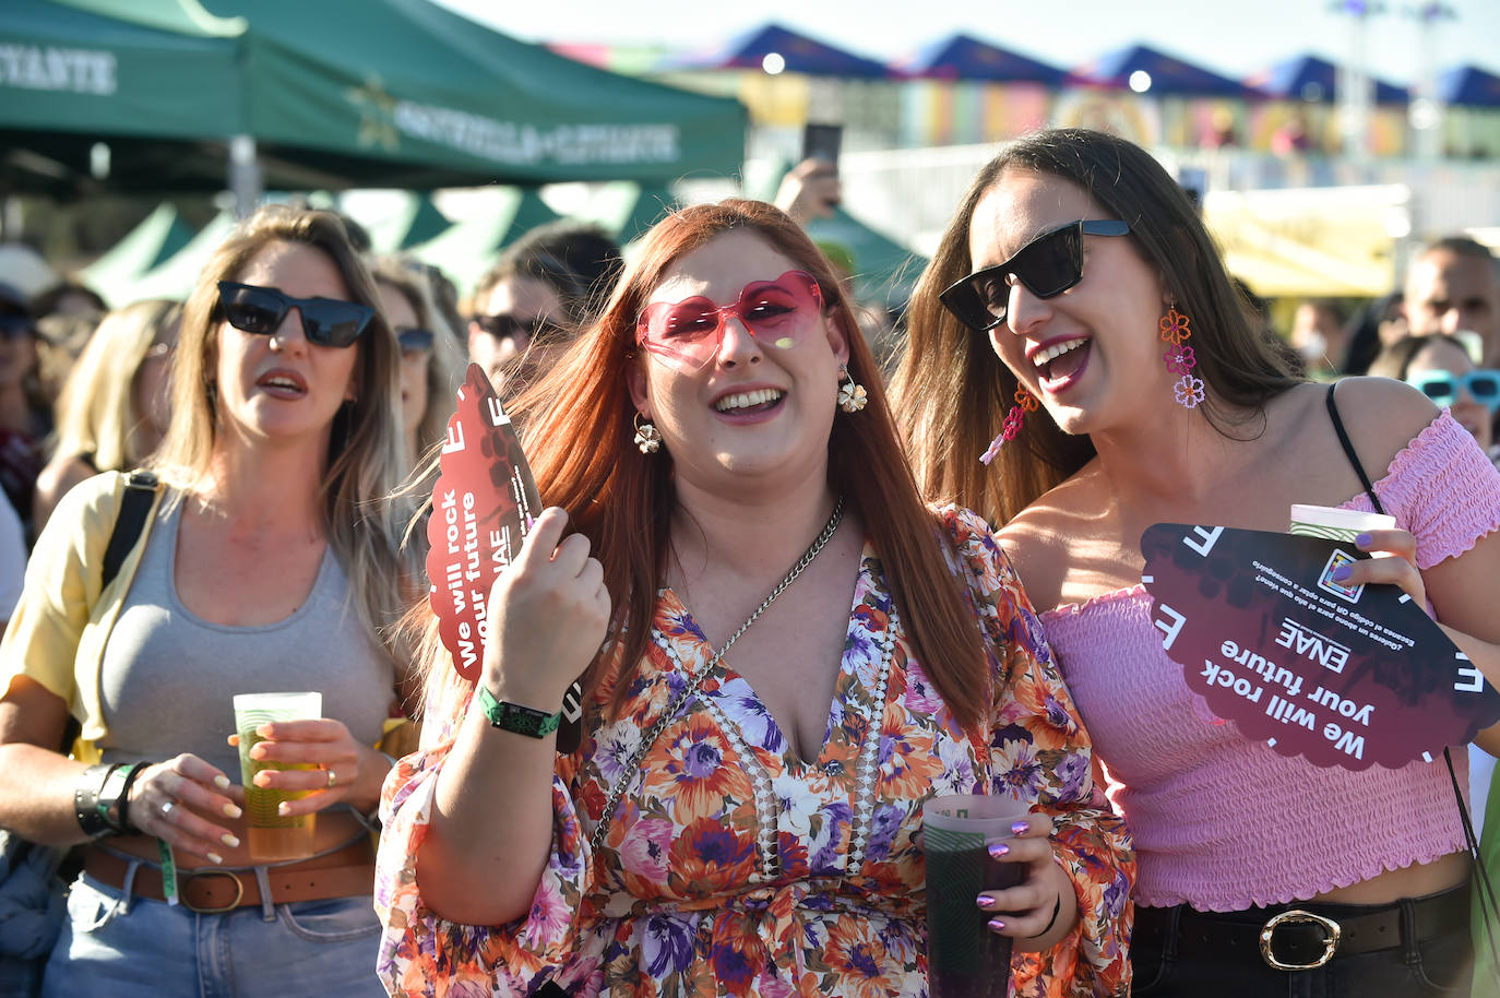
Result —
[[[574,63],[430,0],[0,5],[12,191],[214,191],[230,167],[288,191],[658,183],[734,174],[744,132],[738,101]]]

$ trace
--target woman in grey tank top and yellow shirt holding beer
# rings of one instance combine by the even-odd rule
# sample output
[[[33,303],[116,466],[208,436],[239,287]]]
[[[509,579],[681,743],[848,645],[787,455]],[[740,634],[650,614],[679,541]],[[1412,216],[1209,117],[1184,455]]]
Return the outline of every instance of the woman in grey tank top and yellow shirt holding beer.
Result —
[[[396,365],[338,218],[261,209],[183,312],[158,486],[102,474],[52,513],[0,645],[0,825],[87,843],[44,995],[381,993],[368,816],[412,690],[384,627],[416,578],[376,503],[402,468]],[[231,696],[272,690],[322,695],[250,750],[290,764],[256,774],[300,794],[282,815],[316,813],[306,858],[248,846]]]

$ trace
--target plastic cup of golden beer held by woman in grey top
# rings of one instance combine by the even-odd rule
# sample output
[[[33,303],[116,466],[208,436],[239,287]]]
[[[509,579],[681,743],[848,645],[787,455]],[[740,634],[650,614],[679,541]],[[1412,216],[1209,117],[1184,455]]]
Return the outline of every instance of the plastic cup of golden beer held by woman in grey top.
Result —
[[[278,720],[322,717],[322,693],[236,693],[234,731],[240,735],[240,782],[244,785],[246,845],[256,861],[300,860],[315,852],[316,815],[282,815],[284,800],[306,797],[310,791],[256,786],[261,770],[310,770],[310,764],[252,759],[250,749],[266,741],[255,729]]]

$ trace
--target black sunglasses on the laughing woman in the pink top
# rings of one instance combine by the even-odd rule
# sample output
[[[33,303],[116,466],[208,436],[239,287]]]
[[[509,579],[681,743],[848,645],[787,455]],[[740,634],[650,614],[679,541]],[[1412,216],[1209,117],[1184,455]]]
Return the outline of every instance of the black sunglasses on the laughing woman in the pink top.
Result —
[[[1040,299],[1052,299],[1083,279],[1083,237],[1125,236],[1130,225],[1110,219],[1068,222],[1030,240],[1002,264],[970,273],[938,296],[960,323],[987,332],[1005,321],[1010,278]]]

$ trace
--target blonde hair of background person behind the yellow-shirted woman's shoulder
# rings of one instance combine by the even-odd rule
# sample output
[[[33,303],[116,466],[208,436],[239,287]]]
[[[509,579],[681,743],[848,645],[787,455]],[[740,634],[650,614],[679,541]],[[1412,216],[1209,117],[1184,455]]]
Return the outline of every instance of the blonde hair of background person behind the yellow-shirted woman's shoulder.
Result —
[[[182,317],[182,302],[147,299],[104,317],[57,398],[54,458],[88,456],[99,471],[147,458],[135,378],[153,345]]]

